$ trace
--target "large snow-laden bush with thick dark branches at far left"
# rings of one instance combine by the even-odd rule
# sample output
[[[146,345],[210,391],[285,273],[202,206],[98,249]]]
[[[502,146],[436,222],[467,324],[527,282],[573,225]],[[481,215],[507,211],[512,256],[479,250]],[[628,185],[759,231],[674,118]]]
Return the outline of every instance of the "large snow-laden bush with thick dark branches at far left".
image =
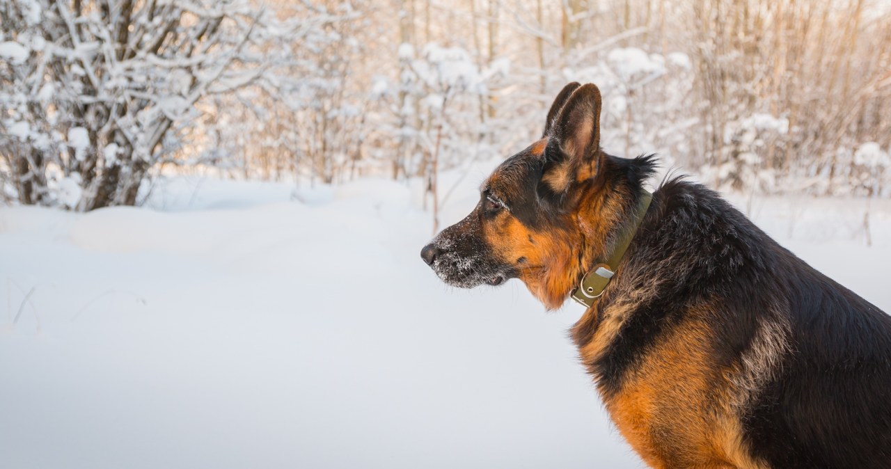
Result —
[[[208,96],[266,79],[249,0],[0,0],[0,182],[23,204],[134,205]],[[273,54],[273,57],[275,55]]]

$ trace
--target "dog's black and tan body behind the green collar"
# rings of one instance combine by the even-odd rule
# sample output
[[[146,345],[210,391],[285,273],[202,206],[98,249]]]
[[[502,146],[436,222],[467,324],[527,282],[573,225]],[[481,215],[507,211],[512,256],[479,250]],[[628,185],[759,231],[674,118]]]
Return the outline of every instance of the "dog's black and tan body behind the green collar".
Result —
[[[754,461],[887,465],[885,312],[781,247],[714,191],[683,178],[654,193],[622,268],[596,308],[605,328],[594,336],[613,332],[589,363],[611,412],[645,405],[642,390],[670,395],[681,386],[683,399],[720,416],[709,425],[731,422],[739,430],[708,438],[741,438]],[[650,433],[691,425],[683,412],[650,415],[648,422]]]

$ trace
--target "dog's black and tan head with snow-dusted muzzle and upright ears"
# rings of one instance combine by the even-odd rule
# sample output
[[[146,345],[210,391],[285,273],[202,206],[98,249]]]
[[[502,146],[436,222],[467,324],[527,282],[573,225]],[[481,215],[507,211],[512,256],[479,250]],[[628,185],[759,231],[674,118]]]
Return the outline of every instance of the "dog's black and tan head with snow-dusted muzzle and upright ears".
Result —
[[[600,150],[600,114],[597,86],[563,88],[543,138],[495,169],[476,208],[421,250],[424,262],[454,287],[519,278],[545,306],[560,307],[633,198],[633,184],[619,183],[627,168]]]

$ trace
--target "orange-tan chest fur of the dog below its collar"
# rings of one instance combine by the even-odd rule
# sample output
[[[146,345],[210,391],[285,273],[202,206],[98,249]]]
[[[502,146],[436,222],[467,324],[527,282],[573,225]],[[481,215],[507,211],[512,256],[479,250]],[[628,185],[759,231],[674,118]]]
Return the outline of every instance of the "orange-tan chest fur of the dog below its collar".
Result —
[[[617,429],[648,465],[761,466],[744,449],[739,418],[720,404],[732,388],[711,360],[706,324],[672,327],[621,372],[604,373],[598,364],[616,362],[609,353],[628,352],[613,343],[624,331],[606,319],[580,352]]]

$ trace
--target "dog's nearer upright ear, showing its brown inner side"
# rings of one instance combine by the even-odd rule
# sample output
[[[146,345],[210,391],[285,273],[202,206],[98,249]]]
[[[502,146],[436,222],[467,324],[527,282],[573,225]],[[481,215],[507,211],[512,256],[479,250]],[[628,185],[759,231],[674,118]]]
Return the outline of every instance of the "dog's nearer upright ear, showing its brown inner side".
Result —
[[[590,83],[579,86],[553,119],[547,134],[542,182],[554,193],[563,193],[572,182],[590,179],[597,173],[600,119],[601,91]]]

